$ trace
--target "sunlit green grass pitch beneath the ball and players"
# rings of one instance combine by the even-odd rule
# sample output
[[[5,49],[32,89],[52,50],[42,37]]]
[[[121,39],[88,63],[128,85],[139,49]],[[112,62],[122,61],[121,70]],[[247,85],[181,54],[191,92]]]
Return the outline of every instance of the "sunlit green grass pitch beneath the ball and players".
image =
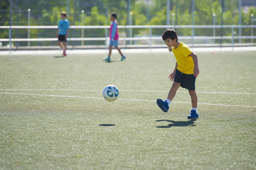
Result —
[[[0,56],[0,169],[256,169],[255,52],[197,53],[197,121],[182,88],[156,105],[174,54],[105,56]]]

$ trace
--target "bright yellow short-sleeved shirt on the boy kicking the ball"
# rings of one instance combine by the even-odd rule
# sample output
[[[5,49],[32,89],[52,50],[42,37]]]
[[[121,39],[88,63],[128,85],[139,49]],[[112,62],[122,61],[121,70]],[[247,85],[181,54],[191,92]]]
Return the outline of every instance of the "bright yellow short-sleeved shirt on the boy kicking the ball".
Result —
[[[174,52],[174,56],[177,60],[177,70],[184,74],[194,74],[193,58],[189,56],[189,54],[193,52],[190,48],[183,42],[180,42],[177,49],[175,49],[174,46],[172,47],[172,52]]]

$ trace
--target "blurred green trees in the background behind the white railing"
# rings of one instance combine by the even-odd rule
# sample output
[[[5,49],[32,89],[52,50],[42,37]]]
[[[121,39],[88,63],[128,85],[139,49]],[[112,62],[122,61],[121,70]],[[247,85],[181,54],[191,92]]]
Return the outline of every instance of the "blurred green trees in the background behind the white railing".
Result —
[[[19,2],[19,5],[18,5]],[[191,25],[192,16],[194,16],[195,25],[212,25],[213,14],[216,15],[215,24],[221,24],[221,0],[195,0],[195,13],[192,15],[192,0],[171,0],[170,5],[170,23],[177,25]],[[27,9],[31,8],[30,25],[56,25],[60,19],[60,12],[67,11],[71,25],[109,25],[110,13],[117,12],[118,25],[129,24],[129,16],[127,17],[128,1],[109,1],[109,0],[69,0],[69,10],[67,11],[67,1],[13,1],[13,18],[12,25],[27,25]],[[167,23],[167,1],[166,0],[131,0],[130,11],[133,12],[133,25],[165,25]],[[10,25],[10,1],[3,0],[0,2],[0,25]],[[19,13],[17,12],[19,8]],[[84,10],[84,14],[81,13]],[[130,12],[128,11],[128,13]],[[256,17],[256,8],[250,7],[249,12],[245,14],[242,11],[242,24],[251,24],[251,14]],[[172,17],[172,13],[175,14]],[[19,15],[17,15],[19,14]],[[19,18],[18,18],[19,16]],[[19,20],[19,23],[17,21]],[[237,25],[239,20],[238,1],[225,1],[223,24]],[[36,37],[52,37],[55,31],[49,30],[35,31],[31,29],[31,38]],[[120,29],[124,34],[124,30]],[[164,29],[152,29],[152,35],[160,35]],[[185,28],[177,30],[179,35],[191,35],[191,29]],[[235,30],[238,32],[237,30]],[[79,32],[78,30],[76,32]],[[86,36],[95,37],[95,31],[86,32]],[[26,31],[20,30],[19,37],[27,37]],[[149,30],[133,29],[133,35],[148,35]],[[196,35],[207,35],[202,29],[195,30]],[[216,35],[220,34],[216,32]],[[224,31],[224,36],[230,35],[230,31]],[[8,30],[0,30],[0,36],[8,38]],[[75,35],[75,34],[74,34]],[[97,33],[97,35],[105,36],[105,32]],[[243,29],[243,35],[250,35],[250,29]],[[13,34],[14,36],[14,34]],[[77,35],[78,36],[78,35]]]

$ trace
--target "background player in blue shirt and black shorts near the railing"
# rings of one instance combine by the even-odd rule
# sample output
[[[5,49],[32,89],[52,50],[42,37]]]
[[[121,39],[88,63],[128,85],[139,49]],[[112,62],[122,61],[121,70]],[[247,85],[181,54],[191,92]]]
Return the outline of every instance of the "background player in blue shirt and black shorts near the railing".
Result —
[[[69,29],[69,21],[66,19],[67,13],[61,12],[61,19],[58,22],[58,29],[56,36],[58,38],[58,45],[63,49],[63,56],[67,56],[67,37]]]

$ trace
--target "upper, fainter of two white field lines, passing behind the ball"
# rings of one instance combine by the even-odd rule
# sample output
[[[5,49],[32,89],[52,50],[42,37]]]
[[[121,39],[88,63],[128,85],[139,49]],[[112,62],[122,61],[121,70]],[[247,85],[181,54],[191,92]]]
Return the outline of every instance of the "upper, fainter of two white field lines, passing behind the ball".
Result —
[[[0,91],[102,91],[91,89],[0,89]],[[169,92],[169,91],[157,91],[157,90],[119,90],[127,92]],[[187,91],[177,91],[178,93],[188,93]],[[256,95],[255,93],[240,93],[240,92],[200,92],[197,94],[233,94],[233,95]]]

